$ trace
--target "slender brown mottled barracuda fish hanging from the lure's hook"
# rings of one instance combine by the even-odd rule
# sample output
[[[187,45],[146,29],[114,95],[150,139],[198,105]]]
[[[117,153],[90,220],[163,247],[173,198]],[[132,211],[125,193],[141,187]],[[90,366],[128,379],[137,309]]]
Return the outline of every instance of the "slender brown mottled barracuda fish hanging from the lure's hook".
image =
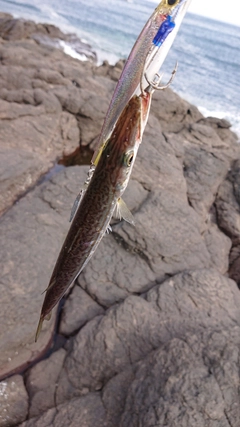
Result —
[[[121,199],[131,175],[147,123],[152,90],[134,95],[121,113],[102,150],[96,169],[83,194],[46,290],[36,341],[44,319],[86,266],[106,233],[117,207],[120,217],[134,224]]]

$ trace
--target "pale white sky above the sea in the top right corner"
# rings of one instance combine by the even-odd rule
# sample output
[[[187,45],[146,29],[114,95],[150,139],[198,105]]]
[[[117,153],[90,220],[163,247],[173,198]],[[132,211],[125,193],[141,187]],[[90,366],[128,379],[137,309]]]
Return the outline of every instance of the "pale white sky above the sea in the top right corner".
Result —
[[[156,3],[159,1],[156,0]],[[208,16],[240,27],[239,0],[192,0],[188,10],[197,15]]]

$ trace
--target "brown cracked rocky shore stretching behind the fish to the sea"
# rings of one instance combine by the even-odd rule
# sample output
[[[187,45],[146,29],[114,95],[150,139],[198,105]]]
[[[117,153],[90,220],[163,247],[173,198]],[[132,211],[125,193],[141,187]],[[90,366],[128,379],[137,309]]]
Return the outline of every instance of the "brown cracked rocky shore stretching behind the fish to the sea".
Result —
[[[0,427],[239,427],[240,145],[171,89],[124,197],[136,227],[114,221],[34,342],[88,171],[56,165],[91,153],[122,69],[64,37],[0,14]]]

